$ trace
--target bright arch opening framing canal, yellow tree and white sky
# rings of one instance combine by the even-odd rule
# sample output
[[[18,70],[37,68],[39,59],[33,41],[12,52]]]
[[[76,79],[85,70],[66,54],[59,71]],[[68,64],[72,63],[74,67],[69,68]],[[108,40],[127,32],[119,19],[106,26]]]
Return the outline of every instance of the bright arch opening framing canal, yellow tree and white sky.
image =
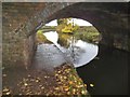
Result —
[[[100,32],[92,24],[72,17],[46,24],[37,31],[36,37],[38,50],[42,44],[53,44],[62,52],[65,58],[63,63],[73,64],[76,68],[94,59],[99,52],[96,44],[101,40]]]

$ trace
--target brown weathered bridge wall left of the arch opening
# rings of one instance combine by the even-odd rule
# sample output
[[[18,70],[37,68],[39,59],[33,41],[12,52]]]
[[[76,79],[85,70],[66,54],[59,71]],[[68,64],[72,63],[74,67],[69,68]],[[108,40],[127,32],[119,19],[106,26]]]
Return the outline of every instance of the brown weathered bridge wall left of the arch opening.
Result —
[[[31,65],[35,32],[69,3],[3,3],[3,67]]]

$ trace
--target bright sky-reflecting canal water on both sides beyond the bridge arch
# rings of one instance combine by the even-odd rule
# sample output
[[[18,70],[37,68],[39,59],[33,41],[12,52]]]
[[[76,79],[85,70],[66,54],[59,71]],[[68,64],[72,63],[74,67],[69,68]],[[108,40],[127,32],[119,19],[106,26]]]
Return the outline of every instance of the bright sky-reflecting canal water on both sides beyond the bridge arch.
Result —
[[[46,32],[43,34],[63,53],[65,60],[73,64],[76,68],[90,63],[98,55],[98,45],[84,42],[82,40],[76,40],[76,38],[69,38],[66,39],[69,42],[69,46],[66,48],[57,43],[58,34],[56,31]]]

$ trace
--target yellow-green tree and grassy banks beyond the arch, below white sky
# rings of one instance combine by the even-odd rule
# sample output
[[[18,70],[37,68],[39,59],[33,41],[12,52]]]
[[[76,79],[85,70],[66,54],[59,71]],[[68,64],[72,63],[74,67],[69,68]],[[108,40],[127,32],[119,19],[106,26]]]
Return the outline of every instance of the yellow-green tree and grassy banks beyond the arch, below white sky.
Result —
[[[55,30],[58,32],[58,43],[63,46],[68,46],[69,43],[67,39],[70,39],[74,36],[76,39],[83,40],[90,43],[99,43],[101,40],[101,34],[93,26],[73,26],[73,23],[69,23],[72,18],[62,18],[57,19],[58,26],[43,26],[37,31],[37,43],[50,43],[47,38],[43,36],[43,32],[47,30]],[[74,33],[74,34],[69,34]]]

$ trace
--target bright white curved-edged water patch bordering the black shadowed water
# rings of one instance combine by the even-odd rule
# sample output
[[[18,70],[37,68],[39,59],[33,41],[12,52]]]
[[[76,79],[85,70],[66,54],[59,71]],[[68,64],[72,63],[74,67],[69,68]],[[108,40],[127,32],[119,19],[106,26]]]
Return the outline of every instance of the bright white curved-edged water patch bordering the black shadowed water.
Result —
[[[80,67],[90,63],[98,55],[99,52],[98,45],[81,40],[78,40],[75,46],[79,47],[79,50],[76,50],[74,52],[76,56],[76,61],[74,61],[75,67]]]

